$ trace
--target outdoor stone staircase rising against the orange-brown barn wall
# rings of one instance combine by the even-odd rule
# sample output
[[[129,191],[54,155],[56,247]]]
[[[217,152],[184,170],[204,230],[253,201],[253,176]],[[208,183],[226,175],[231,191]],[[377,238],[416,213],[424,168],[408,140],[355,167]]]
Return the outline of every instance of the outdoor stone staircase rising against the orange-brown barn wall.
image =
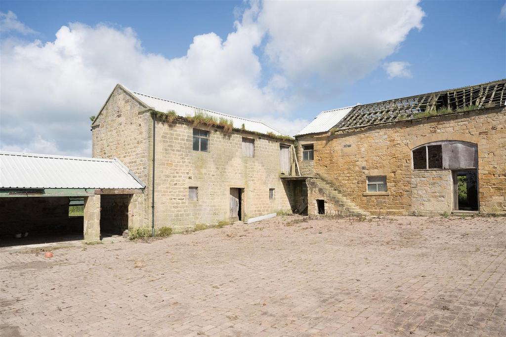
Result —
[[[308,179],[308,188],[314,188],[318,191],[318,194],[325,199],[327,203],[332,203],[334,208],[338,209],[336,214],[343,216],[368,216],[369,213],[361,210],[357,205],[348,200],[338,187],[331,182],[318,176],[315,178]],[[327,210],[325,210],[327,213]]]

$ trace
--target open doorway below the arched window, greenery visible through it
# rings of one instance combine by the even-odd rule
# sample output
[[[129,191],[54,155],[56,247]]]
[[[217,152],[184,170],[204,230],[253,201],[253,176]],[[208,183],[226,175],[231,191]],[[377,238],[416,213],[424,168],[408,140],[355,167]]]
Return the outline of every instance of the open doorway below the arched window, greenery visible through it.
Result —
[[[453,172],[453,209],[478,211],[478,172],[476,170]]]

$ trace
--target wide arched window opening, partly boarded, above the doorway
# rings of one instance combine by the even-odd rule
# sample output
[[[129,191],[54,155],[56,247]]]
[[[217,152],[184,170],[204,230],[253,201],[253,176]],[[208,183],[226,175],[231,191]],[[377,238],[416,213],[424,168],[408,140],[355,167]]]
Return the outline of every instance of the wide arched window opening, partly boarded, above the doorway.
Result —
[[[478,167],[478,147],[467,141],[443,140],[412,150],[413,170]]]

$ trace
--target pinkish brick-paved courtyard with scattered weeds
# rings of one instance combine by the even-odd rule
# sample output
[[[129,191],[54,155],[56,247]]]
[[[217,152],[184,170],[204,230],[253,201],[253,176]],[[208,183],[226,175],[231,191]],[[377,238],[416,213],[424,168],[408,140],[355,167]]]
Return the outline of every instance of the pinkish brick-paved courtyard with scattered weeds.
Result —
[[[506,335],[506,219],[302,217],[0,252],[0,335]]]

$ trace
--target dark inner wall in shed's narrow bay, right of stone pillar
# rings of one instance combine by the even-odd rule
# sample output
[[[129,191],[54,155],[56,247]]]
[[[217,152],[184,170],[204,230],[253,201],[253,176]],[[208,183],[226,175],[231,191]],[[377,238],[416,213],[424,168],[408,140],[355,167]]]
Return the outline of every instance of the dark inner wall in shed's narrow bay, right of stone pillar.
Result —
[[[129,227],[129,205],[132,195],[102,195],[100,198],[100,231],[119,235]]]

